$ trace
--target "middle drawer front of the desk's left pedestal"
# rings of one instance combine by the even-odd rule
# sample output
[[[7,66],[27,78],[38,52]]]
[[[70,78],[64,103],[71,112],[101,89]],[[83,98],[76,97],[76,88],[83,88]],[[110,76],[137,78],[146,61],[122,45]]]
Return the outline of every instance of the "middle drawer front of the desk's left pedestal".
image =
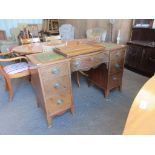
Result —
[[[71,85],[69,76],[61,76],[55,79],[43,80],[45,97],[49,98],[59,93],[70,93]]]

